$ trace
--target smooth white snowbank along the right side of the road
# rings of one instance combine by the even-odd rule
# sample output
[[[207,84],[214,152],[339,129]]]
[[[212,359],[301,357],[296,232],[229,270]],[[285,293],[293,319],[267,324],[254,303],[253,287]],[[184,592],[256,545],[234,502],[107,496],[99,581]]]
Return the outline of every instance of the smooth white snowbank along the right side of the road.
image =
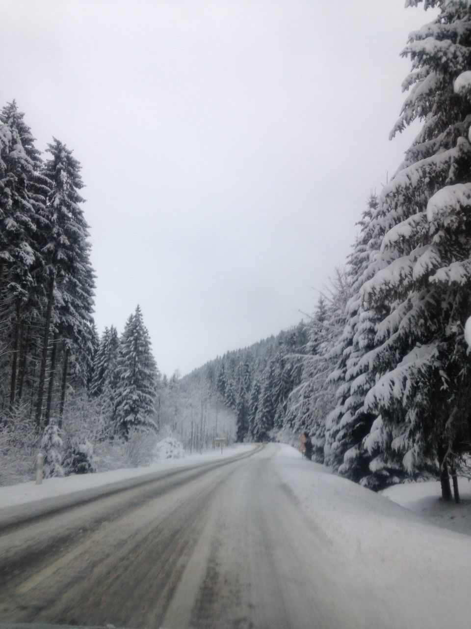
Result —
[[[439,528],[385,496],[330,474],[290,446],[279,447],[277,470],[293,502],[340,562],[336,589],[342,605],[353,609],[358,599],[372,617],[383,618],[383,627],[470,626],[467,535]],[[417,504],[409,491],[409,504]],[[425,488],[416,491],[424,492],[430,504]]]

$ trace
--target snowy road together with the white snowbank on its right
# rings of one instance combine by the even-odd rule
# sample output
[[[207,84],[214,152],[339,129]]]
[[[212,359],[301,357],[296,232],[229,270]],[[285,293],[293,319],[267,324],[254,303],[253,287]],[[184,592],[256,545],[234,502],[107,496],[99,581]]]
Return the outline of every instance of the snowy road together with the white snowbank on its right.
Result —
[[[469,565],[469,537],[270,444],[4,528],[0,618],[457,629]]]

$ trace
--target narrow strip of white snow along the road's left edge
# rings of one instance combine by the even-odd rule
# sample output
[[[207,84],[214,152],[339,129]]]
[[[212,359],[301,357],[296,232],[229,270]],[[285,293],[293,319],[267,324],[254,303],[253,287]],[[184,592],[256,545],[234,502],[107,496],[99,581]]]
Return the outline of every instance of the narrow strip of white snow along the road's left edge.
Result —
[[[0,510],[19,504],[33,503],[46,498],[56,498],[57,496],[64,496],[77,491],[96,489],[97,487],[109,485],[117,481],[146,476],[153,472],[161,472],[166,469],[198,465],[200,463],[211,462],[212,460],[220,460],[222,457],[233,457],[236,454],[242,454],[242,452],[249,452],[249,450],[254,447],[254,445],[237,444],[224,448],[222,454],[220,450],[216,450],[215,452],[205,452],[205,454],[191,454],[178,459],[165,459],[165,452],[166,449],[168,449],[165,448],[162,459],[147,467],[121,468],[109,472],[97,472],[95,474],[77,474],[63,478],[48,478],[44,479],[41,485],[36,485],[35,481],[30,481],[0,487]]]

